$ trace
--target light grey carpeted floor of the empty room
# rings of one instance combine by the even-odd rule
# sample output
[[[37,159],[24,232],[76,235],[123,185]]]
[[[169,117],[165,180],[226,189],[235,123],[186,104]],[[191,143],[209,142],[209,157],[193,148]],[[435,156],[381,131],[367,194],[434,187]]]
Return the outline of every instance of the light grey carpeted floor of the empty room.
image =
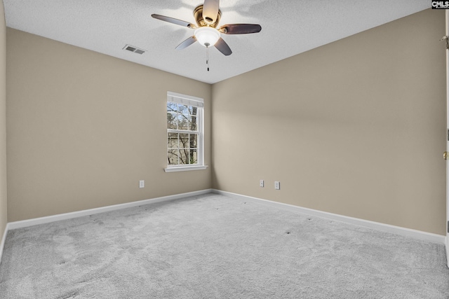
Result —
[[[0,298],[449,298],[442,244],[208,194],[11,230]]]

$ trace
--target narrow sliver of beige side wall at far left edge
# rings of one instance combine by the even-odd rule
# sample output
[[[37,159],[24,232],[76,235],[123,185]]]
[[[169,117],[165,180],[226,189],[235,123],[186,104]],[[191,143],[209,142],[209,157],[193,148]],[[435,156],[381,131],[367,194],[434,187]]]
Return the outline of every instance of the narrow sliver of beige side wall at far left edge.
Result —
[[[0,1],[0,242],[7,217],[6,199],[6,25],[3,1]]]

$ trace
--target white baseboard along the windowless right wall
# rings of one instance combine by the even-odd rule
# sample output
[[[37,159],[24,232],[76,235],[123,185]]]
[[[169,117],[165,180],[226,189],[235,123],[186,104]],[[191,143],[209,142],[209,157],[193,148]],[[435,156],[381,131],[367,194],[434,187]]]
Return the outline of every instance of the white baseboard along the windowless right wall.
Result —
[[[291,210],[299,211],[300,213],[303,213],[303,214],[326,218],[326,219],[330,219],[333,221],[340,221],[340,222],[344,222],[344,223],[363,226],[365,228],[371,228],[374,230],[381,230],[384,232],[391,232],[391,233],[394,233],[397,235],[413,237],[415,239],[421,239],[423,241],[440,243],[440,244],[445,244],[447,242],[445,236],[432,234],[431,232],[422,232],[421,230],[412,230],[410,228],[401,228],[400,226],[389,225],[389,224],[379,223],[379,222],[375,222],[375,221],[368,221],[368,220],[364,220],[364,219],[360,219],[360,218],[343,216],[343,215],[339,215],[339,214],[332,214],[332,213],[328,213],[326,211],[319,211],[319,210],[315,210],[315,209],[308,209],[308,208],[304,208],[304,207],[295,206],[293,204],[284,204],[282,202],[273,202],[271,200],[262,200],[257,197],[250,197],[250,196],[240,195],[240,194],[236,194],[236,193],[230,193],[230,192],[222,191],[222,190],[213,189],[213,193],[227,195],[229,197],[239,198],[239,199],[243,199],[243,200],[251,200],[253,202],[268,204],[272,207],[289,209],[290,211]],[[448,247],[449,247],[449,244],[446,243],[446,251],[448,251]]]

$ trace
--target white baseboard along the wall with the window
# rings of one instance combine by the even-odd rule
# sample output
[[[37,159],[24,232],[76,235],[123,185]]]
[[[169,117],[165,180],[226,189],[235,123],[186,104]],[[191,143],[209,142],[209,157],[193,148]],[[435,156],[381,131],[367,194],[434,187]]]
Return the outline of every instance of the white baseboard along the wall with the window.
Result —
[[[153,204],[155,202],[166,202],[168,200],[177,200],[177,199],[180,199],[183,197],[202,195],[202,194],[211,193],[211,192],[212,192],[212,189],[206,189],[206,190],[199,190],[199,191],[194,191],[194,192],[189,192],[189,193],[181,193],[181,194],[176,194],[176,195],[156,197],[156,198],[152,198],[149,200],[139,200],[138,202],[127,202],[125,204],[114,204],[112,206],[107,206],[107,207],[87,209],[87,210],[83,210],[83,211],[74,211],[72,213],[58,214],[58,215],[53,215],[53,216],[46,216],[46,217],[41,217],[41,218],[34,218],[34,219],[29,219],[29,220],[10,222],[10,223],[8,223],[8,225],[6,227],[8,228],[8,230],[15,230],[17,228],[26,228],[26,227],[32,226],[32,225],[51,223],[51,222],[55,222],[55,221],[77,218],[77,217],[82,217],[82,216],[89,216],[89,215],[93,215],[93,214],[100,214],[100,213],[104,213],[107,211],[115,211],[118,209],[138,207],[143,204]],[[5,232],[5,234],[6,234],[6,232]]]

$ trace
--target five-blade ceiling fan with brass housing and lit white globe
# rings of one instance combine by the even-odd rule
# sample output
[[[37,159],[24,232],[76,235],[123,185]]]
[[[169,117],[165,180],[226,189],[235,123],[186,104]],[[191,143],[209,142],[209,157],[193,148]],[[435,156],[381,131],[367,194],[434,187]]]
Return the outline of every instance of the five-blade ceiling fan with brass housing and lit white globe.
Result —
[[[223,25],[217,28],[220,22],[222,12],[220,11],[220,0],[204,0],[204,4],[194,9],[194,18],[196,25],[166,17],[165,15],[152,14],[152,17],[158,20],[173,23],[190,29],[195,29],[194,35],[180,43],[176,49],[182,50],[198,41],[201,46],[206,48],[215,46],[224,55],[231,55],[232,50],[222,39],[221,34],[250,34],[257,33],[262,27],[257,24],[231,24]]]

